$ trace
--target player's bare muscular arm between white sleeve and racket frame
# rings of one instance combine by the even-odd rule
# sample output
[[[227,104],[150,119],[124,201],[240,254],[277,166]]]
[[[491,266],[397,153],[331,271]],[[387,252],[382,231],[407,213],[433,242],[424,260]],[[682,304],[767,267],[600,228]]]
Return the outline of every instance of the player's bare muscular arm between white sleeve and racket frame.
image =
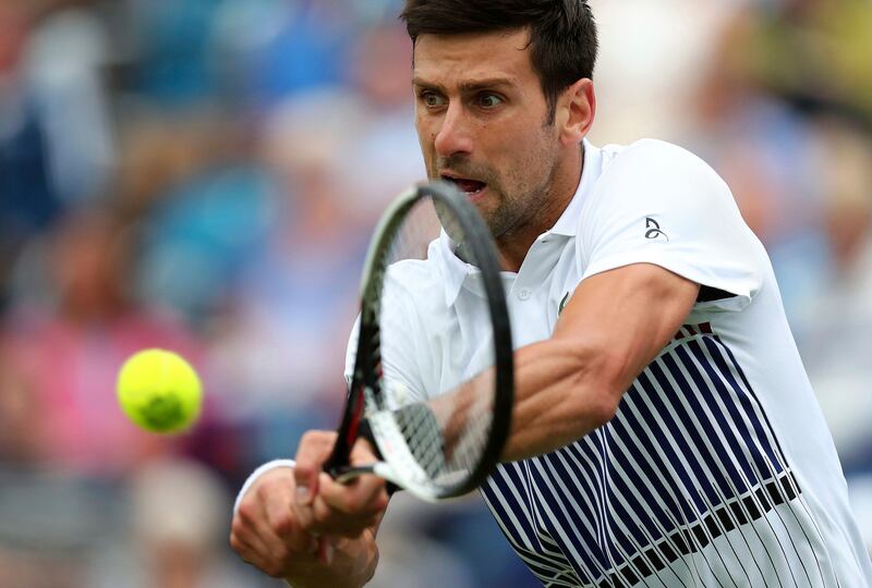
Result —
[[[608,422],[693,307],[699,284],[640,264],[576,290],[554,335],[514,353],[506,461],[542,455]]]

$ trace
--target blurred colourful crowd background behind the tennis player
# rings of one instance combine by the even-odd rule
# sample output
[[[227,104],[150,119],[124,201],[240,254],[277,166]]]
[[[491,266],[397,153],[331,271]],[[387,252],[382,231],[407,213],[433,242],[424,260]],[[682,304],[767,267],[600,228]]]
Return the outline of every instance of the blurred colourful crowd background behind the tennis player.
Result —
[[[591,3],[592,139],[726,177],[872,547],[872,2]],[[424,175],[400,4],[0,0],[0,588],[280,585],[232,498],[335,427],[367,238]],[[205,380],[183,437],[117,407],[152,346]],[[537,586],[477,497],[393,502],[373,586]]]

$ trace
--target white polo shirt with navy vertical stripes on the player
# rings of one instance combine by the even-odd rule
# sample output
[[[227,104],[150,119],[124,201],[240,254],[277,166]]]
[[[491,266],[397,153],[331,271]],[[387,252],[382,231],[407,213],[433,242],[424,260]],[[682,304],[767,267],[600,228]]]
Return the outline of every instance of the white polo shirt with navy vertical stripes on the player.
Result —
[[[695,156],[585,143],[578,192],[502,273],[517,346],[550,336],[584,279],[629,264],[703,285],[615,418],[554,453],[498,467],[482,494],[546,586],[872,585],[845,479],[763,246]],[[477,270],[443,237],[395,266],[386,376],[417,397],[488,357]],[[656,311],[656,308],[652,308]],[[353,367],[352,340],[347,377]]]

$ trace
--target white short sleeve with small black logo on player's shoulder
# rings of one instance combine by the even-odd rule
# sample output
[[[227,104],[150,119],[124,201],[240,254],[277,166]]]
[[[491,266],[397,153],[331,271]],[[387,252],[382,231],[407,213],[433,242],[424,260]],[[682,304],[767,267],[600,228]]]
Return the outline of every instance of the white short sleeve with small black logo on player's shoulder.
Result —
[[[698,306],[740,310],[763,283],[762,245],[726,183],[668,143],[635,143],[607,164],[585,203],[577,238],[582,281],[632,264],[661,266],[723,291]]]

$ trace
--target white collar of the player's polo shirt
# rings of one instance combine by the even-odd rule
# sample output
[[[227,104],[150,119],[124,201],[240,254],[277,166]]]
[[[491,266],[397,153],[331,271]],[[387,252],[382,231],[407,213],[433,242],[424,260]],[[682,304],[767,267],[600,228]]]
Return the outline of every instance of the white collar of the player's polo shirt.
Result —
[[[569,205],[564,210],[564,213],[560,215],[560,218],[557,219],[557,222],[547,233],[568,237],[576,236],[581,217],[582,204],[600,176],[598,171],[602,164],[602,150],[598,147],[594,147],[586,138],[583,140],[582,145],[584,146],[584,167],[582,168],[581,182],[576,191],[576,195],[572,196]],[[467,281],[467,277],[480,273],[479,268],[467,264],[455,255],[455,244],[445,230],[439,233],[439,238],[429,244],[427,257],[436,260],[445,280],[445,303],[448,306],[452,306],[460,295],[460,289],[463,287],[463,282]],[[506,275],[506,272],[501,273]],[[471,280],[468,286],[473,292],[483,295],[483,292],[480,292],[482,285],[479,280]]]

